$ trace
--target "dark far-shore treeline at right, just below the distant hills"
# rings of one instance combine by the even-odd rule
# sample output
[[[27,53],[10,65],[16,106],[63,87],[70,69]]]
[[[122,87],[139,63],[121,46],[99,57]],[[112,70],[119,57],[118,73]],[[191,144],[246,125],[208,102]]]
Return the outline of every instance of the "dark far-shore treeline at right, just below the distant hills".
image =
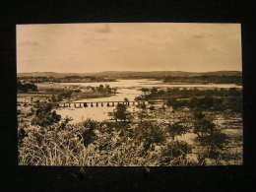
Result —
[[[215,75],[204,75],[196,77],[165,77],[164,83],[200,83],[200,84],[242,84],[241,76],[215,76]]]

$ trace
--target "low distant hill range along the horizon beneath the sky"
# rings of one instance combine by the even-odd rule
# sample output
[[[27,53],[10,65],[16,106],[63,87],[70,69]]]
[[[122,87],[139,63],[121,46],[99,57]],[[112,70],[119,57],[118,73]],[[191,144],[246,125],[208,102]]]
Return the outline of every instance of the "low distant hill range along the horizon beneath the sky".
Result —
[[[64,78],[67,76],[95,76],[107,78],[160,78],[160,77],[196,77],[196,76],[241,76],[240,71],[214,71],[214,72],[184,72],[184,71],[103,71],[96,73],[56,73],[56,72],[32,72],[18,73],[18,77],[55,77]]]

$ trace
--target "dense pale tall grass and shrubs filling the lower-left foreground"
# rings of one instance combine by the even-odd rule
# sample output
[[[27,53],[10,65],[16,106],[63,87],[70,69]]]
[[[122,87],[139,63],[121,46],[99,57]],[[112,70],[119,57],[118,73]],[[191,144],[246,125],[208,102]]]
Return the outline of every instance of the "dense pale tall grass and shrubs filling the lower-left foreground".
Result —
[[[180,159],[175,155],[168,162],[163,160],[172,156],[163,153],[172,142],[163,128],[149,122],[133,129],[126,122],[88,119],[72,125],[64,119],[46,128],[21,127],[19,135],[19,164],[171,165]],[[189,151],[182,145],[178,149],[184,159]]]

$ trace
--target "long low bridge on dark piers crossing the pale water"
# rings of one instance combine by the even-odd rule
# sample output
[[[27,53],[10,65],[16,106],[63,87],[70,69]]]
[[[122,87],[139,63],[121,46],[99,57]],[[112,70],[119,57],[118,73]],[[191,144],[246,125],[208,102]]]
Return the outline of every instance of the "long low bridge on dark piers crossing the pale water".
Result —
[[[24,102],[24,101],[18,101],[17,105],[18,106],[32,106],[34,105],[36,102]],[[103,106],[107,106],[107,107],[114,107],[115,105],[117,105],[118,103],[124,104],[124,105],[136,105],[136,104],[149,104],[149,103],[154,103],[154,101],[137,101],[137,100],[129,100],[129,101],[125,101],[125,100],[119,100],[119,101],[114,101],[114,100],[110,100],[110,101],[88,101],[88,102],[76,102],[76,101],[61,101],[61,102],[45,102],[45,103],[52,103],[57,105],[58,107],[75,107],[75,108],[81,108],[81,107],[103,107]]]

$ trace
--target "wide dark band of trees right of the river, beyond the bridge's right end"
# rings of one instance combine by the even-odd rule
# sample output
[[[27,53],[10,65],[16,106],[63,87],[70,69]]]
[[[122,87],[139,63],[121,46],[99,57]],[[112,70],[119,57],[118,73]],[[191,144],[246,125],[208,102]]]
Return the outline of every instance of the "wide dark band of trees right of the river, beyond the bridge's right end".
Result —
[[[234,112],[242,112],[242,91],[236,88],[220,90],[144,88],[142,92],[144,94],[136,97],[136,99],[164,99],[166,105],[172,106],[174,109],[186,106],[202,110],[223,111],[229,109]]]

